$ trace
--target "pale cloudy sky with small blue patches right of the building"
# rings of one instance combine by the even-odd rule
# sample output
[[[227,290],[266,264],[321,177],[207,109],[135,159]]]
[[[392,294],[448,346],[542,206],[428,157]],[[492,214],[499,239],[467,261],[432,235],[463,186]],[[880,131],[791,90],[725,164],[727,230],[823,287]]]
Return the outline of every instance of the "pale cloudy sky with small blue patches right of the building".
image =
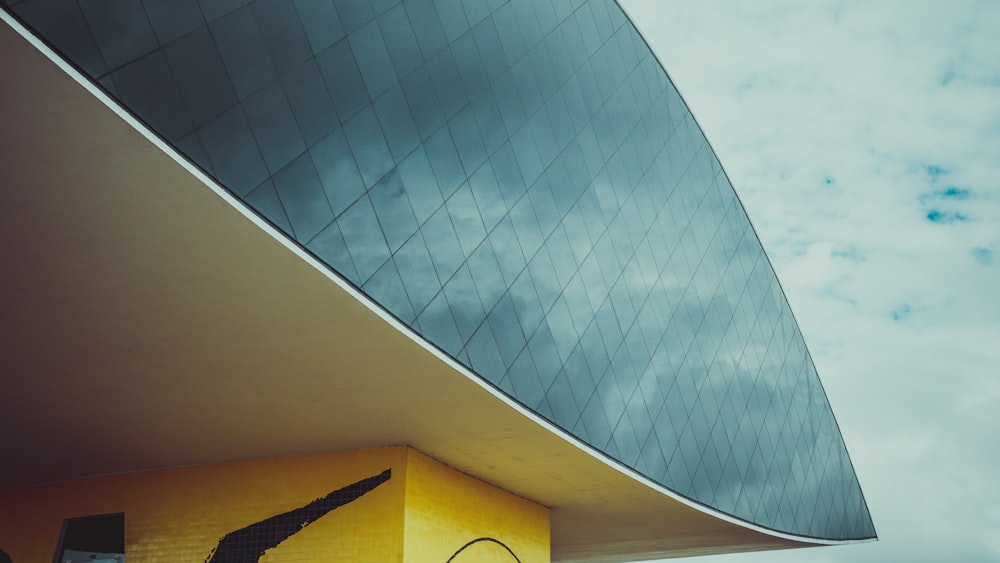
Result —
[[[877,543],[1000,561],[1000,2],[622,0],[798,319]]]

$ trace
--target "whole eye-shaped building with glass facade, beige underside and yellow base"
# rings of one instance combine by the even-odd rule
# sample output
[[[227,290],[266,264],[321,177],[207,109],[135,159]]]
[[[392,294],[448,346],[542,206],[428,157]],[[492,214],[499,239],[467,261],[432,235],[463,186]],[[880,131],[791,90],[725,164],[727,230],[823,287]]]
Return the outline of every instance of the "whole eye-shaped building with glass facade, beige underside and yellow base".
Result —
[[[16,563],[874,538],[750,222],[617,3],[4,8]]]

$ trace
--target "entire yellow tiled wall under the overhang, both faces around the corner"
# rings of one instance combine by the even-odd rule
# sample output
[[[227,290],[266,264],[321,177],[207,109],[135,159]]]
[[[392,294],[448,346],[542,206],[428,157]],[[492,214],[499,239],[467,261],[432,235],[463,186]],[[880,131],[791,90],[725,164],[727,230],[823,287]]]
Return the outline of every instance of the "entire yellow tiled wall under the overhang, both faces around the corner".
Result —
[[[49,562],[64,519],[123,512],[129,563],[205,561],[227,533],[385,469],[392,470],[388,481],[308,524],[260,561],[549,562],[548,509],[405,446],[0,492],[0,548],[14,563]]]

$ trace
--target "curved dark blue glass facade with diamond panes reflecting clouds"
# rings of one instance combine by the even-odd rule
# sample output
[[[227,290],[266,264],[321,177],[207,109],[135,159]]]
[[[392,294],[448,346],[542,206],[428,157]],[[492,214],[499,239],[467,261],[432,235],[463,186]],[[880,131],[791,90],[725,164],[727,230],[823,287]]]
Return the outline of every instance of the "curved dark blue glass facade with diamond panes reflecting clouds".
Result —
[[[874,536],[750,222],[614,1],[6,9],[416,333],[609,458],[766,528]]]

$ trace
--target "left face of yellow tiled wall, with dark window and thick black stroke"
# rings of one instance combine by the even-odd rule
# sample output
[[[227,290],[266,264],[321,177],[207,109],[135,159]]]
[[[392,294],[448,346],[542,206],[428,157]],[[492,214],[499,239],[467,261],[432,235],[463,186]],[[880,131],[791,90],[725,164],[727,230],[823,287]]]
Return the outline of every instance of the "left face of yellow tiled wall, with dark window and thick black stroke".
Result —
[[[358,500],[312,522],[262,562],[402,561],[406,448],[129,473],[0,493],[0,548],[52,561],[64,518],[125,513],[126,561],[205,561],[219,540],[392,469]]]

